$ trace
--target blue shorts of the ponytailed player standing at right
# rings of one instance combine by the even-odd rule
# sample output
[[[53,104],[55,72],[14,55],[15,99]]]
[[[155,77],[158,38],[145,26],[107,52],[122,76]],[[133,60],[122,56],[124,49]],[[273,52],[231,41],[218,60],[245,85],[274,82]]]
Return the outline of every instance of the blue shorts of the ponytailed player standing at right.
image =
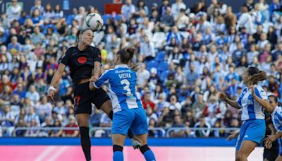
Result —
[[[264,119],[252,119],[244,121],[236,143],[236,150],[239,150],[243,141],[253,141],[259,145],[265,136],[266,126]]]

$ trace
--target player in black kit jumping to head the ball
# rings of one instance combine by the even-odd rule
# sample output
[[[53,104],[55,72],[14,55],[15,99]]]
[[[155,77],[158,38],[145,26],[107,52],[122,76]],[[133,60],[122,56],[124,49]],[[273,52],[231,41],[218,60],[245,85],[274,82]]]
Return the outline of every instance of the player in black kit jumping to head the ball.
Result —
[[[94,33],[90,29],[79,30],[77,37],[78,45],[70,47],[61,59],[61,63],[52,78],[48,97],[54,101],[56,90],[54,87],[61,79],[66,66],[69,66],[73,79],[75,117],[80,127],[80,142],[86,160],[91,160],[88,123],[92,113],[91,103],[97,109],[102,109],[111,119],[113,119],[113,107],[109,96],[102,88],[99,90],[89,89],[90,78],[92,78],[92,81],[97,81],[101,70],[101,52],[97,47],[90,46]],[[133,138],[131,131],[128,131],[128,136],[133,143],[133,147],[139,148],[141,144]]]

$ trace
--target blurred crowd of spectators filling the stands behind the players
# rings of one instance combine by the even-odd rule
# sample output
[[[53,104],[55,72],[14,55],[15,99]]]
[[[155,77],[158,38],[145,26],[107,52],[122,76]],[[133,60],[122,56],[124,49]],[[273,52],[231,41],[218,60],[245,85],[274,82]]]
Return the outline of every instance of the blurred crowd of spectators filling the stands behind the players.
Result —
[[[51,78],[75,33],[85,28],[87,13],[100,8],[72,8],[66,15],[59,4],[30,11],[18,1],[0,17],[0,136],[75,137],[78,131],[42,131],[32,127],[77,127],[69,69],[56,87],[55,102],[48,102]],[[149,128],[177,129],[171,137],[225,137],[224,130],[190,130],[192,127],[240,127],[240,110],[219,100],[225,92],[234,100],[244,88],[243,70],[256,66],[266,71],[267,93],[282,100],[282,6],[246,0],[239,13],[217,0],[198,1],[192,7],[182,0],[163,0],[146,6],[126,0],[121,14],[103,15],[104,28],[95,32],[93,46],[102,53],[103,68],[113,68],[114,53],[128,44],[137,49],[137,96],[147,112]],[[111,127],[106,114],[93,106],[92,127]],[[17,130],[30,127],[29,130]],[[93,136],[109,136],[97,130]],[[159,137],[157,130],[150,137]]]

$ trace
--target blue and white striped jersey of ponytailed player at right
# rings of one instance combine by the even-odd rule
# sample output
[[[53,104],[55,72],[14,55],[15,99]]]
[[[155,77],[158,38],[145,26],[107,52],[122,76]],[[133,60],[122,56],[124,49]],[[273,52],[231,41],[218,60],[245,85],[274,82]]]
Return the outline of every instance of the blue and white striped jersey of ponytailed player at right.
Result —
[[[266,92],[260,85],[255,85],[255,94],[263,99],[268,100]],[[251,91],[248,88],[244,88],[241,95],[237,98],[238,105],[242,108],[242,120],[250,119],[264,119],[264,109],[262,105],[259,105],[254,97],[252,97]]]

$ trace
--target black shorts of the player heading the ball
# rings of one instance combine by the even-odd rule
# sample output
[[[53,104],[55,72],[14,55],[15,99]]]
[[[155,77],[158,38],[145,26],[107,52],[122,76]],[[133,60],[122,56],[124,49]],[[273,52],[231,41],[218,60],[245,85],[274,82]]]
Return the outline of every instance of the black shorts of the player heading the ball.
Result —
[[[97,90],[89,89],[89,82],[82,83],[80,85],[73,85],[74,90],[74,102],[75,102],[75,114],[91,114],[93,103],[97,109],[110,100],[106,92],[99,88]]]

